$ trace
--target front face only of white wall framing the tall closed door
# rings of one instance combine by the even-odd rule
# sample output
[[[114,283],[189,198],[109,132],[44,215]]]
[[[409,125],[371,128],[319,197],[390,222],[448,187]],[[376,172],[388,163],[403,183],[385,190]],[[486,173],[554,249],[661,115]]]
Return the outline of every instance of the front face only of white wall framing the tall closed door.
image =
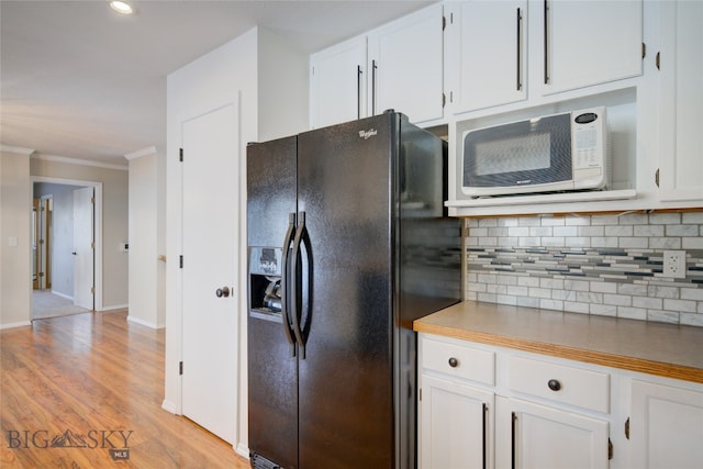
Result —
[[[215,107],[239,98],[241,155],[246,142],[257,138],[257,30],[219,47],[167,79],[167,152],[166,152],[166,370],[164,409],[181,413],[181,380],[178,364],[181,347],[181,271],[176,259],[181,254],[181,167],[178,152],[181,145],[181,122]],[[244,165],[239,165],[244,167]],[[242,183],[233,181],[233,183]],[[203,188],[211,190],[212,188]],[[203,227],[207,230],[208,227]],[[174,260],[171,260],[174,259]],[[234,370],[232,370],[234,372]],[[242,377],[242,373],[241,373]],[[244,378],[246,375],[244,375]],[[246,381],[246,380],[245,380]],[[233,397],[234,398],[234,397]],[[241,420],[246,410],[239,410]],[[243,416],[242,416],[243,415]],[[246,446],[246,432],[237,426],[237,446]],[[241,443],[244,442],[244,443]]]

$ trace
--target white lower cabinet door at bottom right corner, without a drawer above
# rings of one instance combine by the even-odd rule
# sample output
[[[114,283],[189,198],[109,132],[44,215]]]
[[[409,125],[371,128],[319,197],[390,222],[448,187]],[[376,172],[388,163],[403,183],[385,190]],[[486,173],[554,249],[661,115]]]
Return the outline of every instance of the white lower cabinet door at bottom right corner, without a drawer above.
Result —
[[[634,379],[631,397],[632,467],[703,467],[702,390]]]

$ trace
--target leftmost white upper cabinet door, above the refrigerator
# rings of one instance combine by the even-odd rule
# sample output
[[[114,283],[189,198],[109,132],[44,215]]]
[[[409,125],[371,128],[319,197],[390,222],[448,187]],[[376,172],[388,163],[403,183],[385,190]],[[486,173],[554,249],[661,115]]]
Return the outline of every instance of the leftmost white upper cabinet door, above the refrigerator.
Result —
[[[310,56],[310,125],[366,118],[366,36]]]

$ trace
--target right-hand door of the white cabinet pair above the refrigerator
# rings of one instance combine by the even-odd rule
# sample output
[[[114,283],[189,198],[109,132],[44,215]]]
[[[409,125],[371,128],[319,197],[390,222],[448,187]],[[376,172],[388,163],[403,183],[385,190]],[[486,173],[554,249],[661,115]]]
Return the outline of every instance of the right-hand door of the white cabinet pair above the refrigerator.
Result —
[[[369,33],[369,114],[394,109],[411,122],[442,119],[440,3]]]

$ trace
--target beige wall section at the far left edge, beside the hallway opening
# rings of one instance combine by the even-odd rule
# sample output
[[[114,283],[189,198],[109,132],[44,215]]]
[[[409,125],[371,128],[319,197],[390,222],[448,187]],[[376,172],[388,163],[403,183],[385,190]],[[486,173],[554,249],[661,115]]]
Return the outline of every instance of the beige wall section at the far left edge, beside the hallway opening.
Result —
[[[0,148],[0,328],[31,324],[30,153]]]

